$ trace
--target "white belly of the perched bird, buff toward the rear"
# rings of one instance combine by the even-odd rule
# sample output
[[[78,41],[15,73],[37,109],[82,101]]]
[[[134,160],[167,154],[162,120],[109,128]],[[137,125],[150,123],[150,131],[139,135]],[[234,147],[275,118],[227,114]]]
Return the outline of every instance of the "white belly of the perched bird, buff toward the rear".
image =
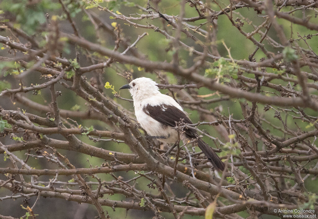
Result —
[[[174,143],[178,140],[178,132],[174,128],[162,125],[155,119],[145,114],[143,111],[139,111],[139,113],[135,112],[135,115],[139,124],[144,130],[147,131],[149,135],[163,136],[165,138],[161,138],[158,140],[167,143]]]

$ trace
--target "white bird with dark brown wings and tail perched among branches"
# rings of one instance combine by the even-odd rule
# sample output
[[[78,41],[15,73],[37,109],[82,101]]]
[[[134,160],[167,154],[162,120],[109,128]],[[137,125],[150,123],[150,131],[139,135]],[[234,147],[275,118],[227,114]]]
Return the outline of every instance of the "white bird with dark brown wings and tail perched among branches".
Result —
[[[202,150],[211,164],[220,171],[225,165],[212,148],[205,143],[197,131],[184,128],[177,131],[177,123],[193,124],[187,113],[171,96],[162,94],[158,84],[150,78],[140,77],[123,85],[119,89],[129,89],[133,97],[137,122],[150,135],[162,142],[176,143],[178,139],[197,139],[197,146]],[[179,138],[180,137],[180,138]]]

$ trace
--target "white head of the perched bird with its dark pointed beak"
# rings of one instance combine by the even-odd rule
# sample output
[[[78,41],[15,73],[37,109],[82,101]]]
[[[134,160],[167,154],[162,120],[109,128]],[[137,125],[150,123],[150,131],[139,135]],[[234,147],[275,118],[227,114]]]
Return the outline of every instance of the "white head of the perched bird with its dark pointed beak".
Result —
[[[157,83],[150,78],[136,78],[119,89],[129,89],[133,99],[145,98],[160,93]]]

